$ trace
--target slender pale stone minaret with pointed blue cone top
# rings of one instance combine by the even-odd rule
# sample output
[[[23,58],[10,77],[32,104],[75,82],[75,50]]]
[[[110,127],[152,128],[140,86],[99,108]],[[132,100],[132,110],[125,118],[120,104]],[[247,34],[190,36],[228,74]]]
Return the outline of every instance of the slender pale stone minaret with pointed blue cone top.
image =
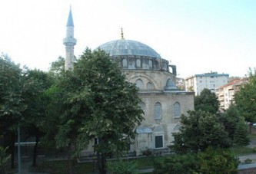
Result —
[[[74,23],[72,18],[71,8],[68,15],[66,38],[63,39],[63,44],[66,49],[65,71],[74,69],[74,46],[76,39],[74,38]]]

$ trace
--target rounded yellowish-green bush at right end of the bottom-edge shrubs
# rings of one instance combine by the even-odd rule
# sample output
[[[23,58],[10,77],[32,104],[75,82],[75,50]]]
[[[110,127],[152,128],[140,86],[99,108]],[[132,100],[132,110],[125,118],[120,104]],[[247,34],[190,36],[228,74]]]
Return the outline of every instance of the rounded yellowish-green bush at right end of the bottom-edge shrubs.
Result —
[[[209,147],[198,154],[200,163],[199,173],[238,173],[238,159],[228,149],[214,149]]]

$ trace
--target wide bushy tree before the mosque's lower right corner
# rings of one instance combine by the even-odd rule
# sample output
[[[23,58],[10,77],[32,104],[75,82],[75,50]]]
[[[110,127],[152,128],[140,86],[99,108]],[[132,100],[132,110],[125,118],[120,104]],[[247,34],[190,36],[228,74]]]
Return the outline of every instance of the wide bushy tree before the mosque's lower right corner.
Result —
[[[204,151],[209,146],[226,148],[231,146],[228,133],[213,113],[188,111],[188,117],[181,116],[180,132],[175,138],[171,151],[175,153]]]

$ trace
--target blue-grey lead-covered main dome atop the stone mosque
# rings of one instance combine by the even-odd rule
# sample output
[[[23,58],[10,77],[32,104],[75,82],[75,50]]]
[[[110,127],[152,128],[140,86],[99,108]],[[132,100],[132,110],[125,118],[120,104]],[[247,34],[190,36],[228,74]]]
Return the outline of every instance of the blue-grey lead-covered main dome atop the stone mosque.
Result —
[[[108,41],[105,44],[101,44],[98,48],[106,51],[106,53],[108,53],[110,56],[132,55],[160,58],[160,55],[155,50],[139,41],[131,41],[126,39]]]

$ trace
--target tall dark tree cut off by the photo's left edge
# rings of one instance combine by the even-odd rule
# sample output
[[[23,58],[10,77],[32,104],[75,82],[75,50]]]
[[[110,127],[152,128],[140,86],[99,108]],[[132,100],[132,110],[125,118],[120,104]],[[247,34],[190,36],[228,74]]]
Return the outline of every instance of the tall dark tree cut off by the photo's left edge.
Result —
[[[8,56],[0,57],[0,133],[2,146],[9,146],[14,168],[15,132],[22,124],[22,112],[26,109],[22,98],[24,74],[18,64]]]

